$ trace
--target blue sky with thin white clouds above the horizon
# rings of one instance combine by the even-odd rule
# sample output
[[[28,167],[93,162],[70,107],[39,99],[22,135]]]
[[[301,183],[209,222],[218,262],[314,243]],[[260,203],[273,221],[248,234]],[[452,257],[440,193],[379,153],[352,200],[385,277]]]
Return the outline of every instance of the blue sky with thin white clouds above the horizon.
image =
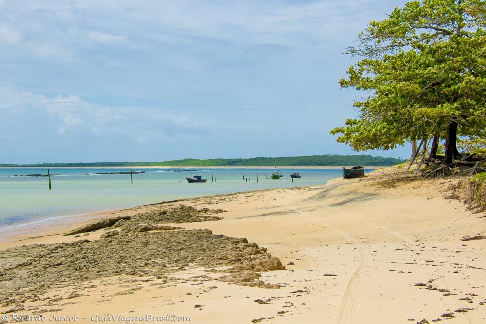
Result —
[[[0,0],[0,163],[356,154],[342,53],[405,2]]]

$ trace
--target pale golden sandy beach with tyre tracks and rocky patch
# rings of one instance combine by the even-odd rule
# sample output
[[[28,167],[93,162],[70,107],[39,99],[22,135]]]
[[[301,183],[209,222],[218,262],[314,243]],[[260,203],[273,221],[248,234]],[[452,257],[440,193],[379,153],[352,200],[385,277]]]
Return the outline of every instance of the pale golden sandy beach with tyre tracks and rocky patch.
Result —
[[[182,199],[12,236],[0,243],[2,320],[485,323],[485,215],[445,198],[457,178],[402,173]]]

